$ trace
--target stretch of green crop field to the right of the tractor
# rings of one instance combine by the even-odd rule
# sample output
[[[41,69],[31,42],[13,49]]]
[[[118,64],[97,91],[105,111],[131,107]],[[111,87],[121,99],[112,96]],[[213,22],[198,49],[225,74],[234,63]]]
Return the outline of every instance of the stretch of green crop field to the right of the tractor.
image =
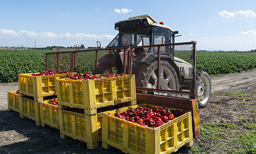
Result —
[[[196,52],[196,70],[204,70],[209,75],[241,72],[255,67],[255,52]]]

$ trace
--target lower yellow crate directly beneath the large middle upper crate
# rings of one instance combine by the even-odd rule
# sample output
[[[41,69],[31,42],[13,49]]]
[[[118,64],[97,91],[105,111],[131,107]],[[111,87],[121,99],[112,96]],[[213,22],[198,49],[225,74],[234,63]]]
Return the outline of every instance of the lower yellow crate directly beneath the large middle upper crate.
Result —
[[[88,149],[98,148],[101,142],[102,113],[85,115],[59,109],[61,138],[71,137],[85,142]]]

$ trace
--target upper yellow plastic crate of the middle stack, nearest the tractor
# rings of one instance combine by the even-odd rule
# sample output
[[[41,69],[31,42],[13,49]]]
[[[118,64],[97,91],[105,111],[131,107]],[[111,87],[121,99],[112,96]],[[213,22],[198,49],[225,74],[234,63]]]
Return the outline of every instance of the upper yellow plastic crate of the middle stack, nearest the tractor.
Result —
[[[136,104],[135,75],[96,80],[57,80],[59,109],[66,106],[84,109],[92,115],[97,108],[124,102]]]

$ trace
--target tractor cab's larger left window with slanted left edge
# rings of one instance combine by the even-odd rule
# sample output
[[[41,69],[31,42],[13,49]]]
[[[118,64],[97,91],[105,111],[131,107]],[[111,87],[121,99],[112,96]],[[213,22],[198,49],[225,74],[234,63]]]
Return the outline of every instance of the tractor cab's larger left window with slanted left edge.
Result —
[[[143,37],[150,36],[151,28],[119,31],[119,34],[108,44],[108,48],[137,46]]]

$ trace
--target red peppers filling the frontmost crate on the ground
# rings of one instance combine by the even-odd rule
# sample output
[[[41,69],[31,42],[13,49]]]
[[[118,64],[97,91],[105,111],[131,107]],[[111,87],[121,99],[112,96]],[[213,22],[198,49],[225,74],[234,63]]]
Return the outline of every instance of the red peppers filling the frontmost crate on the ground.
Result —
[[[151,108],[147,105],[146,107],[138,106],[135,109],[130,108],[122,113],[116,112],[114,116],[145,127],[156,128],[185,113],[187,113],[186,110],[170,110],[164,107],[158,109],[158,106]]]

